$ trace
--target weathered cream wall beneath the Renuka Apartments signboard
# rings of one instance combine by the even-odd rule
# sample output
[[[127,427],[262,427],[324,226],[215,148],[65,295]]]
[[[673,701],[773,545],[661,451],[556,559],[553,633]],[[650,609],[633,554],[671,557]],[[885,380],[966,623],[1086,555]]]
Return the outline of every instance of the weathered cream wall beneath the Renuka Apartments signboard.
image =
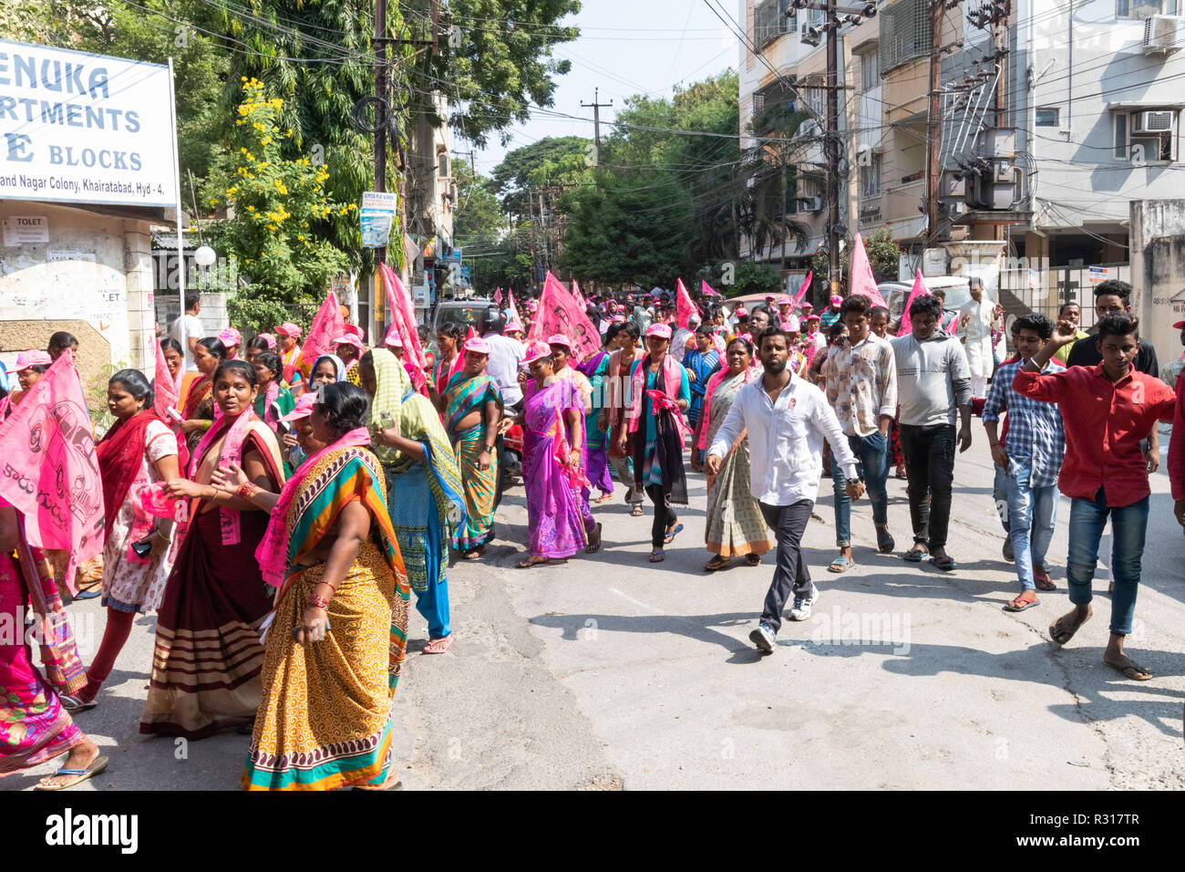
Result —
[[[84,381],[104,364],[148,365],[153,340],[149,222],[25,201],[0,203],[0,221],[44,217],[49,240],[7,235],[0,247],[0,361],[45,348],[57,330],[79,339]],[[11,222],[9,222],[11,224]]]

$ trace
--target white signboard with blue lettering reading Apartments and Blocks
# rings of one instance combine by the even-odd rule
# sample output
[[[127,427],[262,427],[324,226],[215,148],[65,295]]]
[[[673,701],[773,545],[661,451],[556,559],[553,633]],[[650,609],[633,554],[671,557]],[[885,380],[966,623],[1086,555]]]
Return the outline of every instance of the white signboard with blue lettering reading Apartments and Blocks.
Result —
[[[0,40],[0,199],[173,205],[168,68]]]

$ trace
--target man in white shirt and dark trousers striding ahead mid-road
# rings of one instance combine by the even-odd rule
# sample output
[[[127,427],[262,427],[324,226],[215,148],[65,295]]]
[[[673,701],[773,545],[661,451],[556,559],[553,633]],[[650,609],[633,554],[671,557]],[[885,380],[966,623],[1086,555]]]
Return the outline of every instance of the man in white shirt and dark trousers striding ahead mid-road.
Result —
[[[771,654],[790,591],[794,592],[792,620],[809,618],[811,607],[819,600],[819,590],[811,584],[811,573],[802,559],[802,534],[819,494],[824,439],[833,446],[843,467],[847,495],[858,499],[864,484],[857,477],[856,456],[827,397],[786,368],[789,338],[776,325],[756,338],[766,374],[737,393],[707,450],[705,465],[709,475],[717,475],[729,447],[748,431],[752,470],[749,488],[761,504],[766,523],[777,537],[777,568],[766,594],[761,623],[749,638],[758,649]]]

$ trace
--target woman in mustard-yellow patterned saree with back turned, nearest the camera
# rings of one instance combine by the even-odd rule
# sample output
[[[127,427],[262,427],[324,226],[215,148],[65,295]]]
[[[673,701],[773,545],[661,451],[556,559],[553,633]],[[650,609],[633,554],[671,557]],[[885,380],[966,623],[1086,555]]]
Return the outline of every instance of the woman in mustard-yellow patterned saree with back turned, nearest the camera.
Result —
[[[348,382],[324,387],[309,422],[327,445],[278,494],[235,464],[214,476],[224,494],[270,511],[256,558],[280,587],[243,787],[397,788],[391,696],[410,593],[365,393]]]

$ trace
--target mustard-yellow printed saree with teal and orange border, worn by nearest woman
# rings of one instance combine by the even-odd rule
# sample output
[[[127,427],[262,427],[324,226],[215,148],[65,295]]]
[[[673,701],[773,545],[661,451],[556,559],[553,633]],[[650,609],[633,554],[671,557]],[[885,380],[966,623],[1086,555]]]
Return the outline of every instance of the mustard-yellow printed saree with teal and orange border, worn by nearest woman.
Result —
[[[299,475],[282,503],[288,573],[267,631],[243,788],[382,784],[391,769],[391,698],[406,654],[410,599],[383,470],[356,439],[319,452]],[[297,645],[293,631],[325,573],[325,564],[297,564],[354,501],[370,511],[371,537],[329,600],[326,637]]]

